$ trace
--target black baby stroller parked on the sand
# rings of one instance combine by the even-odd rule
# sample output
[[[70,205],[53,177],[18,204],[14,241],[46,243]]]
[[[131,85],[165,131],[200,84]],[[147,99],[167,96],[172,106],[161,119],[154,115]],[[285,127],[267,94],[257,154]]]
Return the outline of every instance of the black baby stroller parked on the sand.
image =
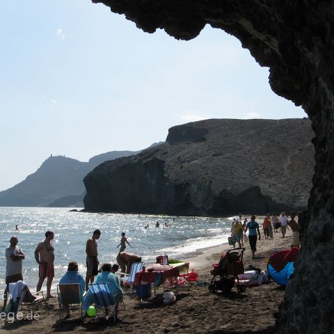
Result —
[[[215,293],[221,290],[225,294],[230,294],[235,280],[237,280],[238,293],[246,291],[246,287],[239,284],[238,278],[239,274],[244,273],[242,257],[245,249],[244,247],[230,249],[221,255],[219,263],[213,264],[211,274],[214,277],[209,284],[209,292]]]

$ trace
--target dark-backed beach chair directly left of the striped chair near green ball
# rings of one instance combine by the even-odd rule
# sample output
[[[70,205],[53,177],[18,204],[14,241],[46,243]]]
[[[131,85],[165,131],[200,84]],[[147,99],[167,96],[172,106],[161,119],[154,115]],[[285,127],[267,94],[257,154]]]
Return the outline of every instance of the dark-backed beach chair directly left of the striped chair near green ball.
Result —
[[[59,320],[61,320],[61,313],[63,310],[63,304],[68,305],[81,305],[81,317],[80,319],[84,319],[82,316],[82,290],[79,283],[71,283],[71,284],[58,284],[57,285],[57,295],[58,295],[58,303],[59,303]]]

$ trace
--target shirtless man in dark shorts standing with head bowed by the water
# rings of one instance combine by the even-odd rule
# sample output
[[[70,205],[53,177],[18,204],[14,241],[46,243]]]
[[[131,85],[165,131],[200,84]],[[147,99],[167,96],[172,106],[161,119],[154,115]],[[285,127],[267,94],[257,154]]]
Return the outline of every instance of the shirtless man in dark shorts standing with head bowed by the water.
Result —
[[[86,290],[88,290],[88,284],[94,282],[94,277],[97,276],[100,262],[97,260],[97,239],[100,239],[101,231],[95,230],[93,237],[90,237],[86,242]]]

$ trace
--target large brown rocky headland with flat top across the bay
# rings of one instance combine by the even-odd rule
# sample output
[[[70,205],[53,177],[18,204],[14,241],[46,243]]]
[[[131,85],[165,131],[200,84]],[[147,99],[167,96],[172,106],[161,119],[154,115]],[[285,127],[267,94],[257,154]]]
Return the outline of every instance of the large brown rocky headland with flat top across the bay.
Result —
[[[305,209],[314,171],[308,119],[203,120],[84,178],[86,211],[222,215]]]

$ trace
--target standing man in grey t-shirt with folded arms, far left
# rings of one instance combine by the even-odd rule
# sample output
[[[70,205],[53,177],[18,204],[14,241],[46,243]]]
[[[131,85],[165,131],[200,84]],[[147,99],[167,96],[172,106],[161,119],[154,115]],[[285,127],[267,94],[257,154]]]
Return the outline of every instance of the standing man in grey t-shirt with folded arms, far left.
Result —
[[[6,309],[9,283],[17,283],[18,280],[23,280],[22,277],[22,260],[25,259],[25,255],[21,247],[17,246],[19,239],[13,235],[10,238],[10,245],[6,248],[6,289],[3,292],[3,308]]]

